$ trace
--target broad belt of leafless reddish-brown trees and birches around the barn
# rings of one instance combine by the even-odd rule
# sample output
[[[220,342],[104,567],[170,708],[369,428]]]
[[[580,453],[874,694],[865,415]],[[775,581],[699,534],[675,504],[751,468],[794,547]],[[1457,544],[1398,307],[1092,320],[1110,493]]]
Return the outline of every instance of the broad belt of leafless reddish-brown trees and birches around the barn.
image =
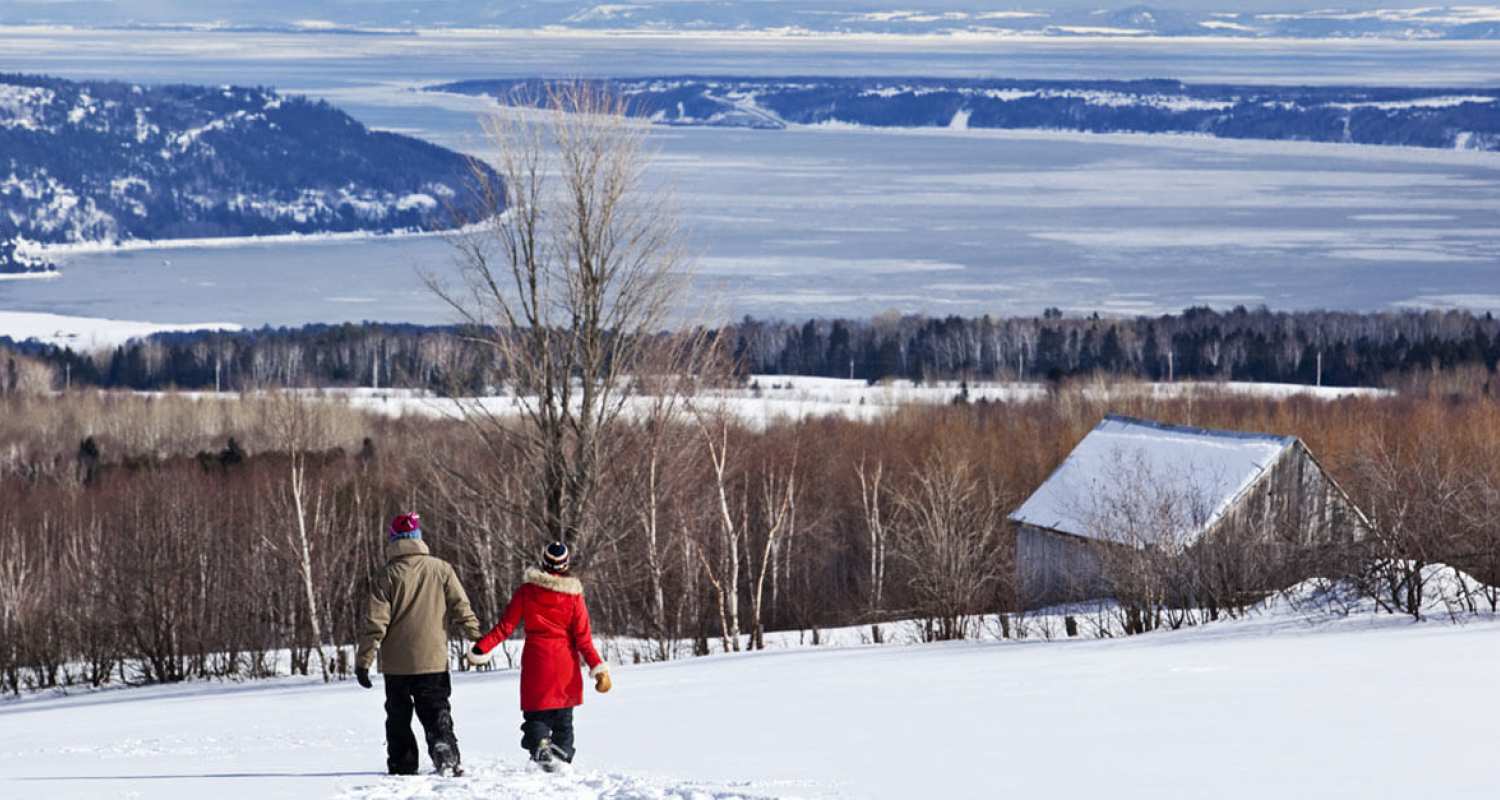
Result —
[[[106,416],[135,419],[148,419],[138,407],[182,404],[178,438],[138,449],[100,434],[81,446],[102,419],[96,396],[3,401],[0,435],[14,455],[0,470],[9,690],[338,677],[390,515],[424,515],[430,545],[458,564],[484,617],[498,614],[548,536],[506,510],[534,491],[520,455],[496,456],[462,420],[384,420],[314,399],[110,402]],[[975,635],[981,615],[1024,605],[1004,515],[1107,410],[1299,435],[1371,522],[1371,536],[1341,554],[1142,551],[1156,561],[1122,564],[1112,587],[1156,612],[1142,629],[1208,618],[1202,603],[1186,618],[1173,597],[1210,578],[1222,585],[1214,594],[1222,615],[1281,588],[1276,579],[1320,570],[1362,576],[1392,612],[1430,614],[1424,603],[1443,587],[1428,567],[1438,563],[1486,584],[1466,599],[1472,609],[1500,603],[1491,588],[1500,585],[1500,404],[1118,402],[1054,398],[765,428],[711,410],[630,417],[612,444],[622,467],[602,482],[597,530],[579,545],[597,629],[621,638],[615,657],[651,660],[710,642],[759,647],[770,630],[894,620],[916,620],[920,638]],[[220,428],[225,417],[237,426]],[[470,492],[453,474],[488,474],[494,492]]]

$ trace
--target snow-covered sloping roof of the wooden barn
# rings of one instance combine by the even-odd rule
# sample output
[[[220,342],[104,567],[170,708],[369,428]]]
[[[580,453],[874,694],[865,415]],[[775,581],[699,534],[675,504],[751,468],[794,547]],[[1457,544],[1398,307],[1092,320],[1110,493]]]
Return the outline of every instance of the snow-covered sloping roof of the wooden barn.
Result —
[[[1178,506],[1170,527],[1196,537],[1298,443],[1296,437],[1166,425],[1110,414],[1011,513],[1011,521],[1100,539]],[[1155,524],[1161,524],[1160,519]]]

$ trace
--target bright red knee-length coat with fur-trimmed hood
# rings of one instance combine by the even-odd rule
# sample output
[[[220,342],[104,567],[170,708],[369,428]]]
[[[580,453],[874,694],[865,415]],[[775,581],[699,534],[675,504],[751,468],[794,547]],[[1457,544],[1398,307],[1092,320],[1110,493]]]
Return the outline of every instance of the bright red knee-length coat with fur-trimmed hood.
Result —
[[[568,575],[526,570],[526,582],[510,597],[500,623],[478,641],[489,653],[510,638],[518,624],[526,629],[520,651],[520,710],[549,711],[584,704],[584,678],[579,656],[590,675],[609,666],[594,650],[584,605],[584,584]]]

